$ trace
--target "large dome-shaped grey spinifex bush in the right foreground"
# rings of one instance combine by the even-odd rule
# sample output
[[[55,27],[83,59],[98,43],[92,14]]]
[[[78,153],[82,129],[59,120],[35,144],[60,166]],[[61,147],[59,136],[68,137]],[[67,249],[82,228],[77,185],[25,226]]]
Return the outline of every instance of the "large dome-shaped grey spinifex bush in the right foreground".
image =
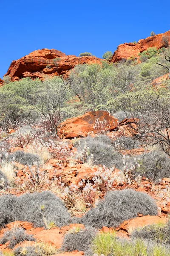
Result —
[[[156,202],[146,193],[124,189],[108,192],[95,208],[82,217],[82,223],[93,227],[117,227],[138,213],[157,215]]]

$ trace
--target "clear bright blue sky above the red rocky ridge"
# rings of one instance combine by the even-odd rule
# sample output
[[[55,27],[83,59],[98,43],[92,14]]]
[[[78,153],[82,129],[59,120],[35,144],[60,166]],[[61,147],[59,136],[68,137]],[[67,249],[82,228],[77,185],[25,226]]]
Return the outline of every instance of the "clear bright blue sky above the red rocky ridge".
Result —
[[[119,44],[170,30],[168,0],[0,0],[0,78],[42,48],[102,57]]]

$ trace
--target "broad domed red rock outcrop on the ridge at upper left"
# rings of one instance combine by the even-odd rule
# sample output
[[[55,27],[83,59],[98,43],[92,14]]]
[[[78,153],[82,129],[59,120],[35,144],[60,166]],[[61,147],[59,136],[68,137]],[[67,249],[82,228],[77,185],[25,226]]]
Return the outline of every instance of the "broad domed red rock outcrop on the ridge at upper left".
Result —
[[[101,64],[102,59],[93,56],[76,57],[65,55],[55,49],[41,49],[29,53],[25,57],[12,61],[5,74],[10,76],[11,81],[17,81],[23,77],[31,79],[44,79],[45,75],[65,75],[77,64]]]

